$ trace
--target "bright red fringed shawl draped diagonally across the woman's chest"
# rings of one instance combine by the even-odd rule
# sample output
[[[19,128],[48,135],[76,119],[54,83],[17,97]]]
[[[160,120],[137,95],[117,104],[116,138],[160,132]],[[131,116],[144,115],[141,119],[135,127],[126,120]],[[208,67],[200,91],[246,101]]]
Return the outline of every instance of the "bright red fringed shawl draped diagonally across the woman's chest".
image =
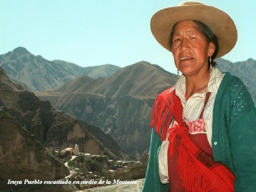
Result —
[[[178,125],[169,129],[173,118]],[[169,130],[168,159],[173,158],[175,140],[177,137],[180,138],[177,171],[186,191],[234,191],[235,177],[230,170],[209,158],[209,155],[198,148],[189,137],[188,127],[182,119],[181,101],[173,87],[156,97],[150,126],[155,127],[155,132],[160,135],[161,140],[166,139]]]

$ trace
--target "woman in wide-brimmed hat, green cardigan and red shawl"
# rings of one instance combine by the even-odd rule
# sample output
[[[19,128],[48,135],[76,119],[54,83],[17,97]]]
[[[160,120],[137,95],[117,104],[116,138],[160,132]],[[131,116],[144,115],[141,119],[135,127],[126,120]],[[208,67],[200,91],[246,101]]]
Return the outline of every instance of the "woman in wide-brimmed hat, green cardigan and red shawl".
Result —
[[[242,81],[214,68],[237,40],[228,14],[185,1],[151,18],[182,75],[154,102],[143,191],[256,191],[256,109]]]

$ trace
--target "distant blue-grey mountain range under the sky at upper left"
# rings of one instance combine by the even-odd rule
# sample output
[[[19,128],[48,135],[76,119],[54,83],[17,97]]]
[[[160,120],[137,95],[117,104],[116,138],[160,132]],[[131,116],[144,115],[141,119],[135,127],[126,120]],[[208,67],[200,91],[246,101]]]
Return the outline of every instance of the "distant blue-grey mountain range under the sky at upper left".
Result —
[[[109,78],[120,69],[110,64],[81,67],[61,60],[49,61],[23,47],[0,55],[0,66],[13,81],[32,91],[53,89],[80,75]]]

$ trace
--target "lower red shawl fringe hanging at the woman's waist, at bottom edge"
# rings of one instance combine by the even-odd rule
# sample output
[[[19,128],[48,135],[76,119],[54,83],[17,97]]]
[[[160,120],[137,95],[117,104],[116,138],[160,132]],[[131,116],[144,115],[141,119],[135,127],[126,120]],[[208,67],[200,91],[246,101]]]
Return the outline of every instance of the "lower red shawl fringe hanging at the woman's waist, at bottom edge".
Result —
[[[197,146],[183,135],[178,146],[177,170],[187,191],[234,192],[234,175],[224,165],[215,162],[210,168],[198,160]]]

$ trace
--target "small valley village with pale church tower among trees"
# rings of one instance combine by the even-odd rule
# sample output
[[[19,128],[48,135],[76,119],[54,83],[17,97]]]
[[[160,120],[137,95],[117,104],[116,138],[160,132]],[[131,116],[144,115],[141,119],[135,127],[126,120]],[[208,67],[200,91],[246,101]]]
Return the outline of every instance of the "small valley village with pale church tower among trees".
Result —
[[[79,190],[98,186],[111,185],[112,183],[99,184],[99,181],[133,180],[137,179],[130,169],[141,165],[140,161],[112,160],[107,155],[94,155],[79,151],[78,144],[74,148],[46,148],[48,153],[62,161],[69,169],[69,175],[63,180],[78,181],[75,184]],[[81,184],[86,183],[86,184]]]

